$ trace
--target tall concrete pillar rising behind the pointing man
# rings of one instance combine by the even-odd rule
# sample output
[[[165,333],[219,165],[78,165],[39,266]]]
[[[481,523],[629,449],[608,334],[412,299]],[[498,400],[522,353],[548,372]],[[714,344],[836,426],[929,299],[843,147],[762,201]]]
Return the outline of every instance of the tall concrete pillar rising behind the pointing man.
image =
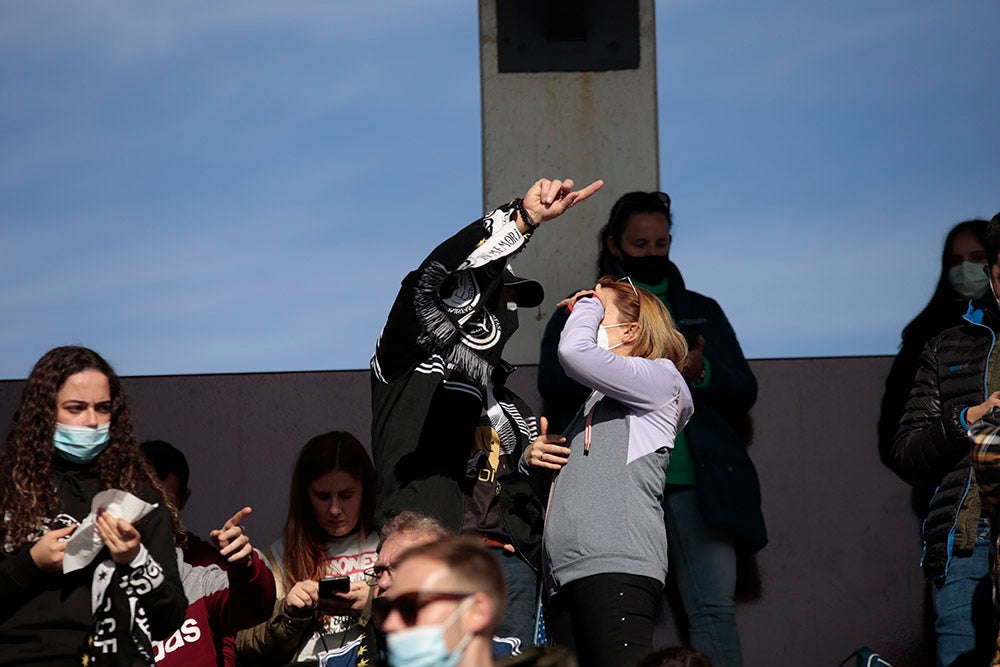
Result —
[[[533,364],[556,302],[595,282],[597,234],[614,201],[660,187],[654,2],[502,0],[498,13],[498,1],[479,1],[483,210],[539,177],[606,182],[514,262],[546,298],[520,312],[504,356]]]

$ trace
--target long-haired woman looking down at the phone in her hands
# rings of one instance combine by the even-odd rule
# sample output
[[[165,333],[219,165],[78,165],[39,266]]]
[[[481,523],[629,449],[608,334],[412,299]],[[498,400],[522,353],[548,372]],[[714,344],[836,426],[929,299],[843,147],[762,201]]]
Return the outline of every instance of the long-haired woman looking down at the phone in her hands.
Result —
[[[339,664],[324,658],[365,640],[359,617],[371,596],[364,571],[378,557],[374,514],[375,469],[358,439],[331,431],[307,442],[292,471],[284,536],[266,554],[278,602],[270,620],[237,635],[240,665]],[[324,591],[328,577],[344,588]]]

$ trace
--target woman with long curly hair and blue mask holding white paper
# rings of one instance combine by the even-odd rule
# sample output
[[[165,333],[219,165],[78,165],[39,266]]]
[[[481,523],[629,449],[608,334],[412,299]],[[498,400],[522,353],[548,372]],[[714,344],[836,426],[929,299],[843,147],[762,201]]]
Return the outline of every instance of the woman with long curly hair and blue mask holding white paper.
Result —
[[[134,525],[105,508],[88,518],[108,489],[154,507]],[[0,459],[0,516],[0,665],[153,664],[152,640],[179,628],[187,608],[179,524],[118,376],[96,352],[58,347],[35,364]],[[64,572],[81,522],[96,553]]]

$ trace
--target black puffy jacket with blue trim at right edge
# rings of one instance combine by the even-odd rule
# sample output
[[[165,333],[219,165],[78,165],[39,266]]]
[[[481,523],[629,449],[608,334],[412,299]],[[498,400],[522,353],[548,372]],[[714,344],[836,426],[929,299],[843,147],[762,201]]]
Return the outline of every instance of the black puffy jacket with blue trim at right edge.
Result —
[[[943,574],[951,535],[972,481],[965,411],[986,400],[986,366],[1000,329],[992,297],[974,301],[965,322],[930,339],[888,463],[914,486],[935,488],[924,521],[924,574]]]

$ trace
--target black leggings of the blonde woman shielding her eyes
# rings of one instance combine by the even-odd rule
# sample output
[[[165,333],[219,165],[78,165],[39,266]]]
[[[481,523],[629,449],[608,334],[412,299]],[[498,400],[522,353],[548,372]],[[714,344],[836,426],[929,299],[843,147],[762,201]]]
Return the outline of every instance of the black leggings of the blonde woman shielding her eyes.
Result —
[[[662,584],[634,574],[595,574],[560,586],[549,605],[555,643],[580,667],[634,665],[653,649],[653,612]]]

